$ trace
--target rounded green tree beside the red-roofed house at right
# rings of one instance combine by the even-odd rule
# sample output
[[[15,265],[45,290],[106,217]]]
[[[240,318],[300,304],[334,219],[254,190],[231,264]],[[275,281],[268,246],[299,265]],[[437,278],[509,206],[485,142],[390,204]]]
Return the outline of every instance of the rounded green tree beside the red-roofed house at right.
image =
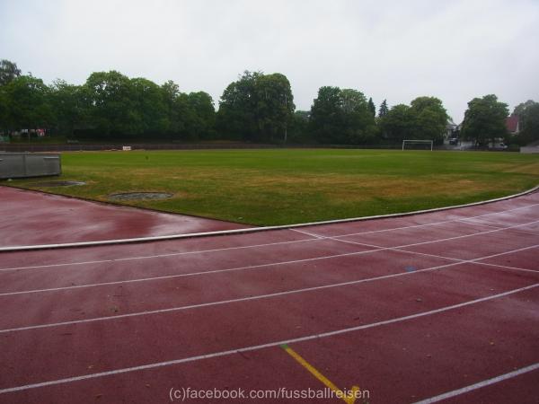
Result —
[[[468,102],[464,112],[462,134],[473,139],[475,145],[494,143],[496,138],[507,135],[505,119],[508,116],[508,104],[499,102],[494,94],[474,98]]]

